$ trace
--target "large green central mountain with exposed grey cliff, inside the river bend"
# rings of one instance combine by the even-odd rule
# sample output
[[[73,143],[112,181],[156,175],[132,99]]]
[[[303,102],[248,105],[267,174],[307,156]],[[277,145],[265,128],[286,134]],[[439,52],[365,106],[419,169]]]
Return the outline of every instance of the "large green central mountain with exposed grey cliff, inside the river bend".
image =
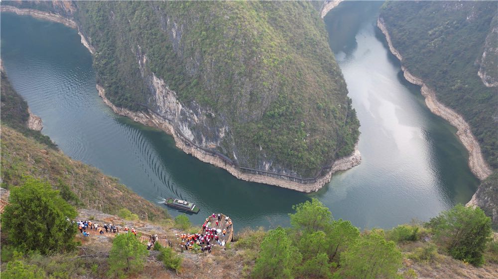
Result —
[[[358,139],[346,83],[308,1],[3,3],[74,18],[113,104],[147,106],[241,166],[312,177]]]

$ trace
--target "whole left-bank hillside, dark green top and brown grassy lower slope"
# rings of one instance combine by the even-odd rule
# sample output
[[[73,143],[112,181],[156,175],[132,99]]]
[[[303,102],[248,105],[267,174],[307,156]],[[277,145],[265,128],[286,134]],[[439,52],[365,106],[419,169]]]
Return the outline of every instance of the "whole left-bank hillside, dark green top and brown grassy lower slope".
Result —
[[[92,205],[112,214],[128,209],[144,219],[168,217],[165,210],[134,194],[116,178],[72,160],[60,152],[49,137],[28,129],[27,109],[26,102],[2,71],[0,177],[3,188],[23,185],[26,176],[31,176],[46,180],[73,206]]]

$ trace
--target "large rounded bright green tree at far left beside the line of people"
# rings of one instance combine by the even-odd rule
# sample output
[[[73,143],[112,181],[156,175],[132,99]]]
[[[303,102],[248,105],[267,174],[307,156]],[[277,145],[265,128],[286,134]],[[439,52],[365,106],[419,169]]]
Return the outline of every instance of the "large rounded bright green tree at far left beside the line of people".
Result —
[[[2,229],[18,250],[65,252],[75,248],[76,210],[47,182],[27,178],[10,191],[10,205],[2,215]]]

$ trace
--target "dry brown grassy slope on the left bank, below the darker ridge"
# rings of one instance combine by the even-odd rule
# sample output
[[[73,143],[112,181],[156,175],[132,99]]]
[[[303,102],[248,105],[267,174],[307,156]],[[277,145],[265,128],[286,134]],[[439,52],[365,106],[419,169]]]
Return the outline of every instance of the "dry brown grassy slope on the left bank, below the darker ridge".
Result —
[[[91,206],[111,214],[127,208],[144,220],[160,221],[168,217],[164,209],[136,195],[118,179],[72,160],[61,151],[26,138],[5,125],[1,127],[1,166],[3,188],[18,186],[24,175],[30,175],[52,185],[62,181],[79,198],[80,207]]]

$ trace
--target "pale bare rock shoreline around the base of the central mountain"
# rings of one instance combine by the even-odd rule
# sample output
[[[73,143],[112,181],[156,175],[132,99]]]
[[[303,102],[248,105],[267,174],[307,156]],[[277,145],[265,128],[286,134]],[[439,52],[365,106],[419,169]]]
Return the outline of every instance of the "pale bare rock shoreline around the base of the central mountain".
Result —
[[[337,2],[339,4],[340,1]],[[332,6],[330,9],[334,8],[335,6]],[[330,10],[329,9],[329,10]],[[78,30],[78,34],[81,37],[81,43],[88,49],[88,51],[93,55],[95,53],[94,48],[88,43],[88,40],[85,38],[85,36],[79,31],[78,25],[74,20],[68,19],[66,17],[63,17],[59,14],[54,14],[54,13],[48,13],[48,12],[43,12],[39,10],[34,10],[34,9],[19,9],[16,7],[12,6],[2,6],[1,11],[5,12],[14,12],[19,15],[30,15],[35,18],[39,19],[44,19],[44,20],[49,20],[53,22],[58,22],[62,23],[70,28]],[[344,171],[348,170],[350,168],[353,168],[357,165],[359,165],[362,161],[362,156],[360,153],[360,150],[358,149],[358,142],[355,144],[355,150],[352,152],[351,155],[338,158],[337,160],[334,161],[332,164],[330,170],[323,176],[318,177],[317,180],[314,183],[299,183],[287,179],[280,179],[268,175],[261,175],[261,174],[251,174],[251,173],[246,173],[242,172],[239,169],[237,169],[235,166],[227,163],[226,161],[222,160],[221,158],[217,156],[213,156],[204,150],[197,148],[196,146],[192,146],[190,143],[186,142],[185,140],[182,139],[180,135],[178,135],[173,127],[173,125],[164,119],[156,116],[154,113],[151,112],[132,112],[124,108],[120,108],[115,106],[109,99],[106,98],[105,96],[105,89],[100,86],[99,84],[96,84],[97,91],[99,92],[99,96],[103,99],[104,103],[111,107],[111,109],[116,113],[121,116],[128,117],[129,119],[133,120],[134,122],[138,122],[140,124],[143,124],[145,126],[149,127],[154,127],[157,129],[160,129],[164,131],[165,133],[173,136],[173,139],[175,140],[175,145],[180,148],[182,151],[184,151],[187,154],[190,154],[197,159],[210,163],[212,165],[215,165],[219,168],[227,170],[230,174],[235,176],[238,179],[249,181],[249,182],[256,182],[256,183],[263,183],[267,185],[272,185],[272,186],[277,186],[281,188],[286,188],[290,190],[295,190],[299,192],[304,192],[304,193],[312,193],[320,190],[325,184],[329,183],[332,175],[338,171]]]

